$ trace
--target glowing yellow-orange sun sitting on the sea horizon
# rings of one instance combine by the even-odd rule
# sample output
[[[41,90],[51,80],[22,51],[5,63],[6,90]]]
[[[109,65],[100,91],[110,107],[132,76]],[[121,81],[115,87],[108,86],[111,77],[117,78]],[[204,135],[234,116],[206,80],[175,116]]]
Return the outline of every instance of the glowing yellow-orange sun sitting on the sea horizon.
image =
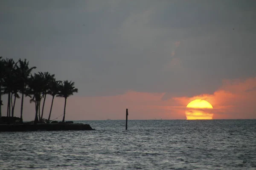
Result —
[[[209,113],[209,109],[213,107],[206,100],[193,100],[186,106],[186,118],[187,120],[212,119],[213,114]]]

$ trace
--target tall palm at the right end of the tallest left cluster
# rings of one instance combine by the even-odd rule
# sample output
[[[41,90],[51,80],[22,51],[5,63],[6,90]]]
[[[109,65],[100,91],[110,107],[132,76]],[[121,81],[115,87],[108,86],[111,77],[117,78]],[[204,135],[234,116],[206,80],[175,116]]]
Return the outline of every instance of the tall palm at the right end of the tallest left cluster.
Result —
[[[36,67],[29,68],[29,61],[27,61],[26,59],[24,59],[24,60],[19,59],[19,61],[18,61],[17,71],[18,71],[18,75],[20,77],[20,87],[21,87],[20,93],[22,94],[21,107],[20,107],[21,122],[23,122],[23,101],[24,101],[24,94],[26,91],[26,86],[28,84],[29,75],[30,75],[31,71],[35,68]]]

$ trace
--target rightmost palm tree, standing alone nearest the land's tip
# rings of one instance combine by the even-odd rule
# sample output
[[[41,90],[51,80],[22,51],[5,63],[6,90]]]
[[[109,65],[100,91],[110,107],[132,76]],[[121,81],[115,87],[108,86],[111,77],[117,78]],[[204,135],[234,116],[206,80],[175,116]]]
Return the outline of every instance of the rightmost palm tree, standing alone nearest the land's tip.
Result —
[[[64,82],[61,82],[60,85],[60,93],[58,94],[58,97],[64,97],[65,98],[65,104],[64,104],[64,113],[63,113],[63,119],[62,122],[65,122],[65,114],[66,114],[66,104],[67,104],[67,98],[69,96],[72,96],[73,93],[77,93],[78,89],[74,87],[75,82],[68,82],[65,80]]]

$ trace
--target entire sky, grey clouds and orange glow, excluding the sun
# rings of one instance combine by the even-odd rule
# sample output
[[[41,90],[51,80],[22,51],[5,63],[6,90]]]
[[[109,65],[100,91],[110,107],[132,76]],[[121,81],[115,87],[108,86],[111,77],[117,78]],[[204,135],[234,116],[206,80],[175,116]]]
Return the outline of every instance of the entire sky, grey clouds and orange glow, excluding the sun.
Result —
[[[67,120],[186,119],[194,99],[256,119],[255,18],[255,0],[0,0],[0,56],[75,82]],[[52,118],[63,110],[56,98]]]

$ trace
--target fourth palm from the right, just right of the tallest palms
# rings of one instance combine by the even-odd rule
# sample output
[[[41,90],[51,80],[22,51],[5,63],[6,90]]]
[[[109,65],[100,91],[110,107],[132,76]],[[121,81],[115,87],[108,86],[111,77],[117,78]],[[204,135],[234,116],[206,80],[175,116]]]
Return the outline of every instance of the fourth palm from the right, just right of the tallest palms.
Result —
[[[35,102],[35,121],[34,123],[37,124],[39,122],[38,120],[38,109],[39,104],[41,101],[41,94],[43,92],[44,88],[44,79],[42,79],[40,74],[34,74],[34,76],[31,74],[29,81],[28,81],[29,88],[26,91],[26,94],[30,97],[32,96],[32,99],[30,99],[30,102]]]

